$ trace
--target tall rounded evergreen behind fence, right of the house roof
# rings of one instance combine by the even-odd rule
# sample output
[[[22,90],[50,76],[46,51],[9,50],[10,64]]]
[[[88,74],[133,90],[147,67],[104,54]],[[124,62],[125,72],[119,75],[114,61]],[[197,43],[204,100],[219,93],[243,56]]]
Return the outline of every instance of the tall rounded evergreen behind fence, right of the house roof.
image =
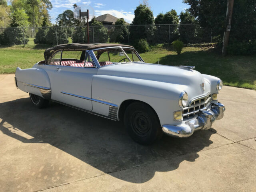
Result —
[[[154,25],[154,16],[150,8],[142,4],[137,6],[134,10],[132,25]],[[154,34],[154,29],[154,26],[131,26],[131,39],[133,41],[138,41],[139,39],[150,41],[152,34]]]

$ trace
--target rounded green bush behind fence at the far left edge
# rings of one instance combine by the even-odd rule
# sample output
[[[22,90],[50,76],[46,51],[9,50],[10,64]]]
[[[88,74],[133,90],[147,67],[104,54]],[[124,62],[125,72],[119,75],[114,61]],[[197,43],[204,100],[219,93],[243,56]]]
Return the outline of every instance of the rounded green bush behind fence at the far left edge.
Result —
[[[22,28],[6,28],[0,34],[1,45],[22,45],[28,44],[28,35],[23,34]]]

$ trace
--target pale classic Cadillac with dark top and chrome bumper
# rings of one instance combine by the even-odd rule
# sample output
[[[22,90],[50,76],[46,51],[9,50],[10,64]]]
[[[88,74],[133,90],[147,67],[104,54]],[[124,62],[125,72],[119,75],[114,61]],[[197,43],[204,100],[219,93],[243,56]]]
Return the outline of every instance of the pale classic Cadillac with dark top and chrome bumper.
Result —
[[[152,144],[162,133],[188,137],[223,117],[222,81],[193,66],[145,63],[128,45],[72,43],[44,52],[45,60],[16,69],[17,88],[32,104],[58,102],[124,121],[133,140]]]

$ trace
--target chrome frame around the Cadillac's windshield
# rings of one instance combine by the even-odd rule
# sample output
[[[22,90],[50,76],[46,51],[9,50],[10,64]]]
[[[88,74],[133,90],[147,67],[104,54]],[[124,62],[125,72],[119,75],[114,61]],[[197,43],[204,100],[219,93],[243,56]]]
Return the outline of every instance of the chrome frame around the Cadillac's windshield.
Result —
[[[110,66],[110,65],[100,66],[99,61],[98,61],[96,55],[94,54],[94,51],[102,50],[102,49],[106,49],[106,50],[107,50],[107,49],[113,49],[113,48],[120,48],[120,49],[122,50],[122,52],[124,52],[124,55],[125,55],[125,56],[128,58],[128,60],[130,60],[130,61],[128,61],[128,62],[120,62],[120,63],[116,62],[116,63],[113,63],[113,64],[111,64],[111,65],[122,64],[122,63],[131,63],[131,62],[133,62],[133,61],[128,57],[128,55],[126,54],[126,52],[124,51],[124,49],[130,49],[130,50],[133,50],[133,51],[134,51],[134,53],[136,54],[136,56],[137,56],[137,57],[139,58],[139,60],[140,60],[140,61],[134,61],[134,62],[144,62],[144,60],[140,57],[140,55],[138,54],[138,52],[136,51],[135,48],[126,47],[126,46],[113,46],[113,47],[96,48],[96,49],[90,50],[90,52],[91,52],[92,56],[95,58],[95,60],[97,60],[97,66],[98,66],[98,68],[106,67],[106,66]]]

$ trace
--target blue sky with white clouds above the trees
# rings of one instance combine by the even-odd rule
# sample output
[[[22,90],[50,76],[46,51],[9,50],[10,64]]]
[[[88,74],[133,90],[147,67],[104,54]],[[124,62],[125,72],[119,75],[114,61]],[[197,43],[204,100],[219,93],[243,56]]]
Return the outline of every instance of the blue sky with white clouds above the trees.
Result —
[[[88,5],[94,9],[95,16],[103,14],[112,14],[118,18],[124,18],[126,22],[131,23],[134,18],[134,9],[142,2],[142,0],[51,0],[52,10],[49,11],[51,21],[55,24],[58,14],[64,10],[73,10],[73,4]],[[154,16],[159,13],[166,13],[171,9],[175,9],[178,14],[182,10],[188,8],[187,4],[182,0],[149,0],[148,1]]]

